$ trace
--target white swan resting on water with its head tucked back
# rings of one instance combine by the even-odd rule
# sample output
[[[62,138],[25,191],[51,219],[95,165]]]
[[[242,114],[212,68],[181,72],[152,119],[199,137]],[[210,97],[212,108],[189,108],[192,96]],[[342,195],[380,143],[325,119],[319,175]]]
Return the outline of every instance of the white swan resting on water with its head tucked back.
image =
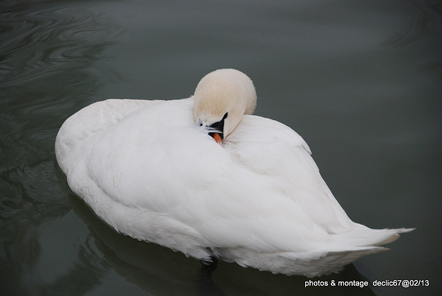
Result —
[[[208,266],[314,277],[413,230],[349,219],[302,137],[255,106],[253,82],[233,69],[210,72],[186,99],[99,101],[61,126],[57,163],[117,232]]]

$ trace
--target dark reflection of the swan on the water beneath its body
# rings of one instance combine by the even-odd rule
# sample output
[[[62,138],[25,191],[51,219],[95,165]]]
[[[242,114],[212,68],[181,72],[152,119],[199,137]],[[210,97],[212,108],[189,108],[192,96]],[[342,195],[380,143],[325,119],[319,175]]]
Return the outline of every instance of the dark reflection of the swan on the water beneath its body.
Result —
[[[68,190],[66,177],[61,170],[58,172],[61,187]],[[153,295],[231,295],[232,292],[234,295],[374,295],[369,287],[305,289],[307,277],[273,275],[225,262],[220,262],[220,267],[213,273],[204,273],[197,260],[169,248],[118,234],[95,216],[79,197],[69,193],[69,200],[75,213],[88,225],[106,262],[128,282]],[[75,281],[75,274],[72,276]],[[341,273],[312,280],[369,281],[353,264],[346,266]]]

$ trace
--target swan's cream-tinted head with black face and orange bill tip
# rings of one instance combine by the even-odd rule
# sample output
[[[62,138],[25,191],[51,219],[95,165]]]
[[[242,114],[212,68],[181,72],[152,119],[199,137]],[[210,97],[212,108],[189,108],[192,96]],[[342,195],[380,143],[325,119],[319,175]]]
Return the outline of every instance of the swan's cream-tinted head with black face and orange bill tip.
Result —
[[[253,114],[256,90],[244,73],[220,69],[202,77],[193,95],[193,118],[218,143],[230,135],[244,114]]]

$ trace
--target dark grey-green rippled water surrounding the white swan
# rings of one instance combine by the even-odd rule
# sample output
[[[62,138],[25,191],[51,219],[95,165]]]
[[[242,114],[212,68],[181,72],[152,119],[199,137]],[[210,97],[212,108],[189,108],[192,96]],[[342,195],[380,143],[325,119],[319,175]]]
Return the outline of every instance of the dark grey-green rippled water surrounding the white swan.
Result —
[[[437,295],[441,292],[442,7],[438,1],[0,3],[1,295]],[[194,259],[102,224],[57,171],[59,126],[108,97],[188,97],[216,68],[258,90],[256,114],[309,143],[349,217],[416,227],[335,280]]]

